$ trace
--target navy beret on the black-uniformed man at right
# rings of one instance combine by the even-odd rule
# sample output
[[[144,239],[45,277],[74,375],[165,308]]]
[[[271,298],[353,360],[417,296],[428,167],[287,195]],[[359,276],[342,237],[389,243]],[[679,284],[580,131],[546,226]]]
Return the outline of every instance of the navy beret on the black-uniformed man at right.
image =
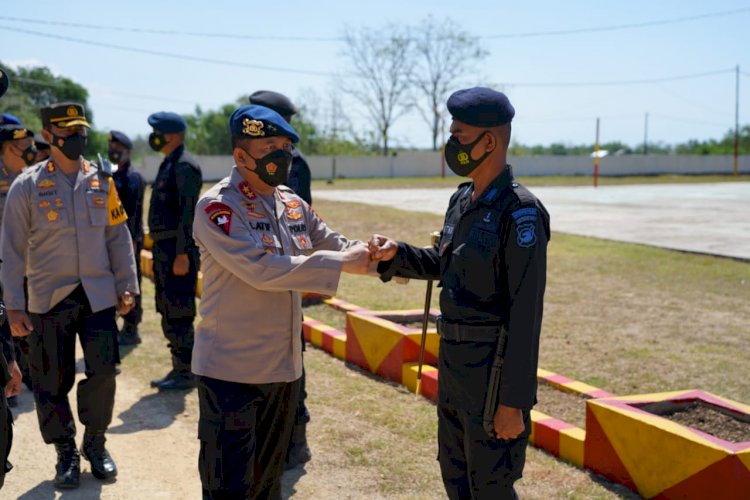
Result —
[[[505,125],[516,114],[508,96],[487,87],[473,87],[454,92],[448,98],[448,111],[454,120],[475,127]]]

